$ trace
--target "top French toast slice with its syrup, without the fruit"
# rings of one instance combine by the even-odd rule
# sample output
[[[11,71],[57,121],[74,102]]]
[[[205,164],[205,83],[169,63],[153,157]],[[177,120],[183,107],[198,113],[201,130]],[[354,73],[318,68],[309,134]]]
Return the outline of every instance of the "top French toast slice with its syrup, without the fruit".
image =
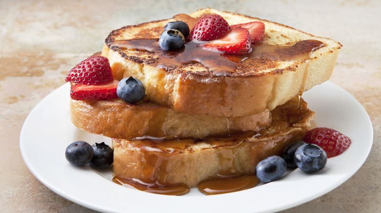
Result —
[[[240,56],[191,44],[172,52],[158,48],[168,22],[183,20],[192,28],[211,14],[230,25],[263,22],[263,41]],[[109,59],[115,79],[139,78],[150,101],[184,113],[236,117],[272,110],[328,80],[340,48],[339,42],[282,24],[206,8],[114,30],[102,55]]]

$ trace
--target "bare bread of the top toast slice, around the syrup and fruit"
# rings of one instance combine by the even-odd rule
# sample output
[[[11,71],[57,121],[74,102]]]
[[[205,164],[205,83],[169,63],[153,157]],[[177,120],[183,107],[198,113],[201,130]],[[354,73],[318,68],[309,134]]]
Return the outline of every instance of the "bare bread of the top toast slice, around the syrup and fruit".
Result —
[[[265,23],[263,44],[292,46],[298,41],[314,39],[324,43],[309,59],[277,61],[250,58],[236,72],[218,76],[199,63],[160,69],[153,53],[111,48],[110,42],[135,38],[158,38],[169,21],[152,21],[126,26],[110,33],[102,55],[106,56],[114,77],[134,76],[146,88],[150,101],[189,114],[239,117],[272,110],[287,100],[328,80],[341,48],[339,42],[310,35],[275,22],[206,8],[190,14],[201,18],[218,14],[229,24],[262,21]],[[177,18],[178,19],[178,18]]]

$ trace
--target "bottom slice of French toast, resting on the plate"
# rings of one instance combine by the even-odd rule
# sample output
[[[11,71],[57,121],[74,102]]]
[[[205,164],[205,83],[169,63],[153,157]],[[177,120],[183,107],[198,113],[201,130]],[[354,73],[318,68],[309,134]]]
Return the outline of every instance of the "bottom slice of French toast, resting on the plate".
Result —
[[[113,174],[162,184],[184,183],[196,187],[216,175],[253,175],[256,164],[280,155],[291,142],[301,140],[310,128],[315,113],[297,111],[292,99],[273,111],[273,122],[258,134],[246,132],[231,137],[204,140],[120,140],[113,139]]]

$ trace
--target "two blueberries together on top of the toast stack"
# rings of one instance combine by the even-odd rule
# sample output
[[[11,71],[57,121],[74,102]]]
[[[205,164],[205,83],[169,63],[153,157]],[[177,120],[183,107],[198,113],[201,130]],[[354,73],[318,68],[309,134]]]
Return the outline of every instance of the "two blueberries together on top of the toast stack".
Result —
[[[172,21],[164,27],[159,38],[159,46],[163,50],[177,50],[184,46],[190,29],[184,21]]]

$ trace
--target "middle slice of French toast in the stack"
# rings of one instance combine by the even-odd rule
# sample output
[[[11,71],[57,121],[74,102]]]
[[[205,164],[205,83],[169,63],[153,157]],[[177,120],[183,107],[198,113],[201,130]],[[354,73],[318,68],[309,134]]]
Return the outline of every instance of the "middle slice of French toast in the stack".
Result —
[[[109,138],[195,138],[242,131],[259,131],[271,124],[271,113],[243,117],[191,115],[142,101],[129,104],[119,99],[77,101],[70,99],[71,122],[86,132]],[[227,124],[228,123],[228,124]],[[229,128],[229,129],[228,129]]]

